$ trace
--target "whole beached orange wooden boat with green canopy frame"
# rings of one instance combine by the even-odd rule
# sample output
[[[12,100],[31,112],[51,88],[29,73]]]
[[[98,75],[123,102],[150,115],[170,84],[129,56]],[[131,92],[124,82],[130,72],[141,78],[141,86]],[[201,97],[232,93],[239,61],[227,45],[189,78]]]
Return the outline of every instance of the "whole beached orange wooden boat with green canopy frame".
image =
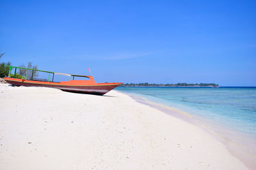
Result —
[[[76,74],[65,74],[65,73],[55,73],[51,71],[42,71],[38,69],[28,69],[24,67],[14,67],[14,66],[6,66],[9,67],[9,75],[4,77],[4,80],[10,83],[11,85],[16,86],[30,86],[30,87],[51,87],[55,89],[60,89],[67,92],[78,92],[84,94],[97,94],[97,95],[104,95],[112,89],[118,87],[122,83],[96,83],[93,80],[92,76],[83,76],[83,75],[76,75]],[[12,68],[15,68],[13,78],[10,77]],[[26,78],[20,79],[16,78],[16,71],[17,69],[26,69]],[[28,80],[28,71],[32,71],[31,80]],[[33,73],[35,71],[40,71],[44,73],[49,73],[48,81],[42,80],[33,80]],[[52,74],[52,80],[50,81],[50,75]],[[61,74],[70,76],[69,81],[60,81],[54,82],[54,74]],[[84,77],[89,78],[90,80],[74,80],[75,77]]]

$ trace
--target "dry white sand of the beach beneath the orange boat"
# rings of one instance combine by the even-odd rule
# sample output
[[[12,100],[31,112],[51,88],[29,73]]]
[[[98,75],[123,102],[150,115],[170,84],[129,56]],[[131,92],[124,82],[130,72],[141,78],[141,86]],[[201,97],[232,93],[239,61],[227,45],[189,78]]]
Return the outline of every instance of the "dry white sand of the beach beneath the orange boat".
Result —
[[[0,169],[247,169],[217,139],[112,90],[0,85]]]

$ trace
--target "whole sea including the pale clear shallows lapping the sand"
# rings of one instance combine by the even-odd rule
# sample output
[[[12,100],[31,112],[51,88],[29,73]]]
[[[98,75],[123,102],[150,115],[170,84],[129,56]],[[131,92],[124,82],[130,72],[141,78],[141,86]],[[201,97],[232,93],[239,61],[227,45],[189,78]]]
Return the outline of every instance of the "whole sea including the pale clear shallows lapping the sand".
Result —
[[[193,122],[219,136],[234,155],[252,168],[256,156],[255,87],[118,87],[116,90],[189,113]]]

